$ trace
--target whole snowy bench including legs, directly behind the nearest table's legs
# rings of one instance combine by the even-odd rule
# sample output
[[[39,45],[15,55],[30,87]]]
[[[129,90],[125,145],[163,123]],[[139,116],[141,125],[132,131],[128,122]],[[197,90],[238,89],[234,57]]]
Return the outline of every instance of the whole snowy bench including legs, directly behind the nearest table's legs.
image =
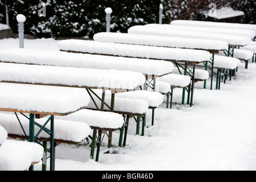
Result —
[[[18,117],[19,120],[17,120],[17,117],[14,114],[0,113],[0,125],[6,129],[8,137],[10,138],[29,139],[28,136],[30,135],[30,123],[28,122],[28,119],[22,116]],[[43,126],[45,123],[43,118],[36,119],[35,122],[41,126]],[[87,138],[90,133],[89,125],[82,122],[55,119],[54,125],[54,150],[55,147],[60,143],[80,143],[82,140]],[[50,130],[49,123],[46,125],[46,128]],[[39,130],[39,127],[35,127],[35,133],[38,133]],[[46,131],[43,131],[38,136],[36,136],[36,140],[43,142],[42,145],[44,148],[44,155],[42,156],[42,170],[45,171],[47,166],[47,142],[50,141]]]

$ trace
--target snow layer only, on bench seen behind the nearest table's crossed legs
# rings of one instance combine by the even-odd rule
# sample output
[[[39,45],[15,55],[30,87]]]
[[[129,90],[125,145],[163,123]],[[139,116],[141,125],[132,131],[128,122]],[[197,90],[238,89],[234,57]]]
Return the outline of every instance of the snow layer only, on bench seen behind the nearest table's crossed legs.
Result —
[[[7,133],[14,135],[24,135],[22,128],[18,123],[18,119],[14,114],[6,114],[0,113],[0,125],[3,126]],[[44,125],[47,121],[47,118],[35,119],[37,123],[40,125]],[[72,142],[81,142],[90,134],[90,127],[86,123],[81,123],[77,121],[65,121],[62,119],[63,117],[59,117],[59,119],[54,119],[54,139],[72,141]],[[30,131],[30,122],[23,115],[19,115],[20,122],[26,132],[29,135]],[[51,128],[50,123],[46,125],[47,129]],[[35,133],[38,133],[39,127],[35,126]],[[42,131],[39,134],[39,138],[48,138],[49,135]]]

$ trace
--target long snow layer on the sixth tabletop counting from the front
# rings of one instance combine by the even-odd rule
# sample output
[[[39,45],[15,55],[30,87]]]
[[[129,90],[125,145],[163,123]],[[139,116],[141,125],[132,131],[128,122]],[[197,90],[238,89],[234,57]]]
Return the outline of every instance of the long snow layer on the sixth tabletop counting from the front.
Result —
[[[247,36],[241,35],[228,35],[218,34],[213,32],[204,32],[196,30],[181,30],[175,28],[155,28],[148,26],[134,26],[129,28],[129,34],[143,34],[143,35],[160,35],[160,36],[172,36],[172,37],[183,37],[183,38],[196,38],[208,40],[222,40],[230,45],[246,46],[250,43],[251,39]]]

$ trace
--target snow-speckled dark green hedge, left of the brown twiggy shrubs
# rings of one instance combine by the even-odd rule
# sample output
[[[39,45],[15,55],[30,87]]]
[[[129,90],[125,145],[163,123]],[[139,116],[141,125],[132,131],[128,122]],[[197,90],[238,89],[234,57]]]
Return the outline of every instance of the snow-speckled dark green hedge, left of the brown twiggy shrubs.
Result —
[[[105,8],[113,10],[111,31],[127,32],[137,24],[158,23],[160,0],[45,0],[46,17],[38,16],[40,1],[7,1],[11,27],[17,32],[14,16],[24,14],[27,17],[25,33],[37,37],[76,36],[92,38],[97,32],[106,30]],[[168,7],[168,0],[164,0]],[[1,7],[0,12],[5,12]],[[5,15],[0,15],[5,22]],[[170,12],[164,10],[163,23],[169,23]]]

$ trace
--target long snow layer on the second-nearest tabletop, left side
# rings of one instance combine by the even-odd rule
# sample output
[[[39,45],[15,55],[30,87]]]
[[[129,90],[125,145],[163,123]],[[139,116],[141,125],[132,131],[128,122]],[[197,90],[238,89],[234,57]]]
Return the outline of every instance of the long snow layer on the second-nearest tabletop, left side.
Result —
[[[0,63],[0,80],[106,89],[134,89],[146,81],[138,72],[11,63]]]

